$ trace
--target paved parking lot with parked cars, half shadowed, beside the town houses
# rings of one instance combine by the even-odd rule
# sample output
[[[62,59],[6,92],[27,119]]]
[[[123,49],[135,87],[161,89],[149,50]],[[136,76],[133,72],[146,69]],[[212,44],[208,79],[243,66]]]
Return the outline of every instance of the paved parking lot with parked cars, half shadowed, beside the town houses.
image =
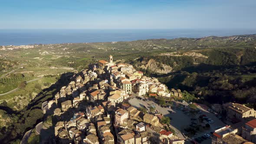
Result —
[[[206,110],[203,110],[201,108],[199,108],[202,111],[201,114],[189,115],[189,114],[185,113],[184,111],[181,111],[180,108],[175,107],[175,105],[174,105],[173,109],[172,108],[162,108],[161,106],[156,104],[154,101],[143,101],[143,100],[139,100],[138,98],[132,98],[129,100],[129,102],[135,108],[140,108],[140,107],[147,108],[148,112],[149,112],[150,105],[151,104],[155,105],[156,110],[158,112],[160,112],[164,116],[172,118],[171,128],[173,128],[176,131],[176,133],[178,134],[178,137],[180,137],[182,139],[185,139],[185,137],[182,135],[182,133],[184,132],[184,128],[187,128],[191,124],[191,120],[190,120],[191,118],[198,118],[200,115],[204,114],[204,115],[207,115],[208,118],[210,118],[214,121],[214,123],[210,124],[209,130],[203,131],[203,132],[197,132],[196,135],[194,135],[193,137],[188,137],[187,141],[185,141],[185,144],[191,144],[190,143],[191,140],[194,140],[197,137],[201,137],[204,134],[210,134],[210,132],[214,131],[217,127],[225,126],[225,124],[222,121],[220,121],[214,114],[212,114]],[[181,107],[188,106],[188,104],[186,102],[181,103],[179,101],[174,101],[174,103],[176,103],[176,105],[180,105]],[[171,114],[169,111],[173,111],[173,114]],[[207,138],[201,142],[201,144],[210,144],[210,143],[211,143],[210,138]]]

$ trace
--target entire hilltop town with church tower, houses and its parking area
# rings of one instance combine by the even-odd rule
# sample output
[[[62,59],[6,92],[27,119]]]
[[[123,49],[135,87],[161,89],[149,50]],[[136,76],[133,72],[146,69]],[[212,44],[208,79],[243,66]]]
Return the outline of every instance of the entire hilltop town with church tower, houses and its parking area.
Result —
[[[182,97],[181,90],[169,90],[158,79],[143,75],[130,64],[116,64],[109,56],[108,61],[99,60],[89,65],[89,69],[73,75],[53,100],[43,103],[43,113],[48,117],[36,132],[42,143],[63,144],[255,142],[255,134],[251,131],[256,129],[256,111],[252,108],[237,103],[214,104],[208,108],[189,101],[189,104],[174,101]],[[172,118],[167,115],[175,115],[174,106],[161,105],[159,98],[166,104],[173,101],[176,113],[181,111],[184,112],[181,116],[189,117],[170,123]],[[221,116],[223,111],[227,115],[225,123]],[[177,124],[190,122],[190,118],[190,128],[201,131],[195,139],[190,137],[191,132],[181,133],[182,125],[186,124]]]

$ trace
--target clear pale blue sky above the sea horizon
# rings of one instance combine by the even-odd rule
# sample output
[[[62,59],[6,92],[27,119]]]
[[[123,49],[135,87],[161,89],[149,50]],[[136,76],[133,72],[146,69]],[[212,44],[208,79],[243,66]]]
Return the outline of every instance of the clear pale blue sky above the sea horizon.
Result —
[[[256,28],[256,0],[1,0],[0,29]]]

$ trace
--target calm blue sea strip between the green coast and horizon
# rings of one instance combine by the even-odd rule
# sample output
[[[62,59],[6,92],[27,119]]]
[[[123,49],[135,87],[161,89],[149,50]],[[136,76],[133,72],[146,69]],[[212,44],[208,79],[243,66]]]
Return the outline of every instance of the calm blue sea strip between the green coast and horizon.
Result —
[[[256,29],[0,29],[0,46],[256,34]]]

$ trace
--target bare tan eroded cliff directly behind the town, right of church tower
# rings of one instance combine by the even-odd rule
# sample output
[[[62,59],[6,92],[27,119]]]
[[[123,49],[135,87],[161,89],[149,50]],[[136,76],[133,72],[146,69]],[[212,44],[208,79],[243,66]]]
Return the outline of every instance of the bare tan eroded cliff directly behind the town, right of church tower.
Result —
[[[173,68],[171,66],[157,62],[154,59],[144,59],[141,61],[141,63],[137,64],[136,66],[141,69],[149,69],[152,72],[161,74],[173,72]]]

